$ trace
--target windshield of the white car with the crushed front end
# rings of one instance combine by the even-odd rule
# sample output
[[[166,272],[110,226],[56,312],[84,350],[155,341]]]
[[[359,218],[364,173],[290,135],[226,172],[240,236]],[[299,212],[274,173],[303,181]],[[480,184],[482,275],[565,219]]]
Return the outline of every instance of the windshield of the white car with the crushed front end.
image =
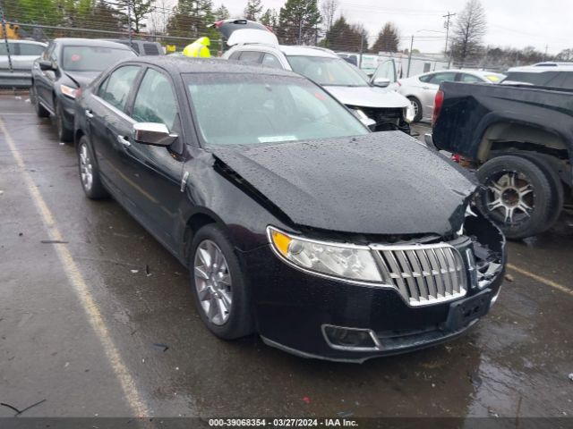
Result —
[[[326,86],[367,87],[368,78],[341,58],[288,55],[293,71]]]

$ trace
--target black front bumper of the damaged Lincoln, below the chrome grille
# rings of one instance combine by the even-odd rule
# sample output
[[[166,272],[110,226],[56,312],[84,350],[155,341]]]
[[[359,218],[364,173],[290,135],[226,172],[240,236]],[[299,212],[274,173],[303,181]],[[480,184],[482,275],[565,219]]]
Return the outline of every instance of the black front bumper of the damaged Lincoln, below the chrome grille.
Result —
[[[243,257],[263,341],[298,356],[345,362],[423,349],[457,337],[477,320],[449,324],[450,308],[469,297],[487,294],[484,315],[503,280],[502,270],[485,290],[470,288],[463,299],[410,307],[393,288],[355,285],[303,273],[279,260],[269,246]],[[372,332],[377,347],[333,348],[327,341],[325,326]]]

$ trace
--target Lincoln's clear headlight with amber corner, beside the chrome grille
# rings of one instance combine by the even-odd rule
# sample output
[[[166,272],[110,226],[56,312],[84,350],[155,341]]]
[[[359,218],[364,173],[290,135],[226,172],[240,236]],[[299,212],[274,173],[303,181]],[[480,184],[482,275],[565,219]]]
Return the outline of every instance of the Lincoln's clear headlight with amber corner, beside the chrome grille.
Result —
[[[362,282],[382,282],[371,249],[294,237],[268,227],[272,248],[287,262],[313,273]]]

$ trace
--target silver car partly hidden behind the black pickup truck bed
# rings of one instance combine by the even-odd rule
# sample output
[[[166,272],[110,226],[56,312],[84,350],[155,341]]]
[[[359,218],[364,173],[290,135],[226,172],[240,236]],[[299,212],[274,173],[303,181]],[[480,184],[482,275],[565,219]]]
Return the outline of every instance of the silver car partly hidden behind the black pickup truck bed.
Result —
[[[407,97],[414,106],[415,122],[431,120],[433,100],[441,82],[499,83],[505,76],[492,71],[442,70],[400,79],[391,88]]]

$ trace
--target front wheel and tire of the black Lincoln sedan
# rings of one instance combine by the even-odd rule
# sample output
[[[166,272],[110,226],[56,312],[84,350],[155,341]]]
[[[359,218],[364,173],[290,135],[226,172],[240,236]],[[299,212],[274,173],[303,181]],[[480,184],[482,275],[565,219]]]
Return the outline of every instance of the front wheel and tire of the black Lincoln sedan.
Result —
[[[247,284],[227,235],[215,224],[197,231],[191,246],[191,284],[201,320],[218,338],[253,332]]]

